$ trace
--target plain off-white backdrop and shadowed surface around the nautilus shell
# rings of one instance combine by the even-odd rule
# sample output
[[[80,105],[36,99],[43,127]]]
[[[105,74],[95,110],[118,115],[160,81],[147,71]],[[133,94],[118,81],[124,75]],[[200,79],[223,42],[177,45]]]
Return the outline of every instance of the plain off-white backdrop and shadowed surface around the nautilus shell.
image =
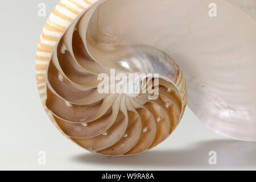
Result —
[[[40,2],[46,3],[46,17],[38,16]],[[63,137],[44,112],[35,81],[39,36],[57,2],[0,1],[0,169],[256,169],[255,143],[213,133],[189,109],[167,140],[137,156],[90,154]],[[46,151],[44,166],[39,151]],[[217,165],[209,165],[209,151],[217,152]]]

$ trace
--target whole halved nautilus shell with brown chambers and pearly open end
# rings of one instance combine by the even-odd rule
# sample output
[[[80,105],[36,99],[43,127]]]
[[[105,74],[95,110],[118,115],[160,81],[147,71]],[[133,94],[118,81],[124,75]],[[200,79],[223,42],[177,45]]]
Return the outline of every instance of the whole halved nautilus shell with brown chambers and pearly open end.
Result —
[[[210,3],[61,0],[36,53],[52,122],[86,150],[133,155],[166,139],[188,103],[217,133],[256,141],[256,3],[216,0],[216,17]],[[137,94],[100,93],[102,73],[146,76]]]

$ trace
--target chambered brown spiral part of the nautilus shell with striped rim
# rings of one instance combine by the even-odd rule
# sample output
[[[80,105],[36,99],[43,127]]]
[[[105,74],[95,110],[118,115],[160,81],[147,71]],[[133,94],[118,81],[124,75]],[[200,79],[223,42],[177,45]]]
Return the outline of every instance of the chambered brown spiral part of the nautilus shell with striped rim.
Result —
[[[180,122],[187,104],[185,78],[163,51],[102,34],[98,7],[60,1],[53,10],[36,57],[40,97],[57,129],[79,146],[102,155],[139,154]],[[121,83],[119,74],[139,76],[136,94],[99,92],[101,75],[111,88]]]

